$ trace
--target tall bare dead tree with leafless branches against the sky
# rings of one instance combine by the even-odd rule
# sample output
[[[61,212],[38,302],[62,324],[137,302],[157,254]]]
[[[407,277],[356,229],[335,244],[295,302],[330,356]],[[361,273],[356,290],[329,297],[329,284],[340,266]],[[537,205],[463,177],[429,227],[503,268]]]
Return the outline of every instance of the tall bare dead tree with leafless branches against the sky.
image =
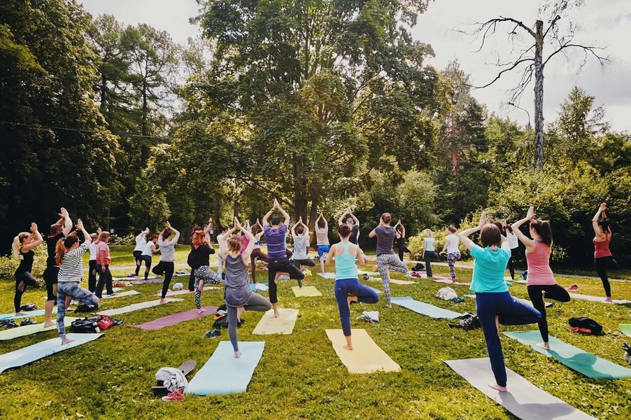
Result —
[[[502,62],[498,57],[495,64],[500,70],[495,78],[485,85],[473,87],[482,89],[497,82],[504,73],[521,71],[518,84],[509,91],[511,94],[510,102],[514,103],[518,102],[534,76],[534,167],[539,170],[544,168],[544,69],[546,65],[553,57],[560,53],[565,55],[570,49],[583,52],[583,59],[579,63],[578,71],[587,63],[589,57],[595,57],[601,66],[609,62],[609,57],[600,54],[604,50],[600,46],[585,45],[574,41],[578,29],[576,24],[569,22],[567,29],[562,30],[560,28],[560,22],[564,17],[567,18],[567,10],[582,6],[583,3],[584,0],[557,0],[546,3],[539,8],[539,16],[548,16],[548,26],[545,30],[544,20],[541,19],[534,22],[534,28],[530,28],[518,19],[499,16],[486,22],[477,22],[475,24],[476,29],[473,31],[462,31],[477,38],[481,37],[480,48],[477,50],[480,51],[484,48],[487,38],[495,35],[500,26],[507,27],[508,40],[512,44],[511,59]],[[527,41],[523,41],[523,36],[526,36],[526,39],[532,37],[532,44],[528,45]],[[516,49],[516,42],[525,43],[526,48]],[[544,45],[546,44],[552,48],[552,52],[544,58]]]

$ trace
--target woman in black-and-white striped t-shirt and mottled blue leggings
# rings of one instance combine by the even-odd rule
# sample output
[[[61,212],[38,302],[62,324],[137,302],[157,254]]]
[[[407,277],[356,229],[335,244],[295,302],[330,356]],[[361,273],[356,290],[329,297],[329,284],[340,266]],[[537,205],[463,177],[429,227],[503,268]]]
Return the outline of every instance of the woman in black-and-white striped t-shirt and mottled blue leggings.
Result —
[[[82,255],[87,251],[92,239],[90,234],[83,228],[81,219],[77,221],[77,229],[83,233],[85,242],[79,245],[79,237],[76,233],[68,235],[57,241],[55,259],[59,265],[59,276],[57,283],[57,330],[62,344],[68,344],[74,340],[66,338],[66,326],[64,318],[66,317],[66,296],[70,299],[78,300],[92,307],[99,305],[99,298],[94,293],[79,286],[79,282],[83,277],[83,260]]]

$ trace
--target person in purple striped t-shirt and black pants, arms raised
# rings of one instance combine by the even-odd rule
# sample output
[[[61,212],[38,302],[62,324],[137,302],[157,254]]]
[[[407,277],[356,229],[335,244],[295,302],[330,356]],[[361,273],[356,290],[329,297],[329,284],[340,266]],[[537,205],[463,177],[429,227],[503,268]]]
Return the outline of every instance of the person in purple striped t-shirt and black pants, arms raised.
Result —
[[[267,219],[274,213],[274,210],[278,210],[285,218],[285,221],[281,223],[280,217],[272,216],[270,227]],[[296,279],[300,287],[302,287],[302,279],[304,279],[304,273],[290,264],[287,259],[287,253],[285,252],[285,234],[288,232],[289,221],[289,214],[281,208],[281,205],[278,204],[278,200],[274,199],[274,207],[263,216],[263,231],[265,233],[265,241],[267,241],[267,258],[269,258],[267,264],[269,301],[271,302],[271,306],[274,307],[274,316],[276,318],[279,316],[276,286],[278,278],[276,274],[279,272],[288,273],[290,279]]]

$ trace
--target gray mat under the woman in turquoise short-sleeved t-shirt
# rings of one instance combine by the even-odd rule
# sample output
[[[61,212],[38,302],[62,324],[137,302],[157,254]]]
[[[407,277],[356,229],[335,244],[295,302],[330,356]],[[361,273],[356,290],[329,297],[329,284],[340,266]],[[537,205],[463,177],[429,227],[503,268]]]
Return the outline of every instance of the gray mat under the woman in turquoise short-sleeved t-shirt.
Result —
[[[523,420],[595,420],[579,409],[550,395],[506,367],[508,392],[499,392],[488,384],[495,382],[488,358],[444,360],[469,384]]]

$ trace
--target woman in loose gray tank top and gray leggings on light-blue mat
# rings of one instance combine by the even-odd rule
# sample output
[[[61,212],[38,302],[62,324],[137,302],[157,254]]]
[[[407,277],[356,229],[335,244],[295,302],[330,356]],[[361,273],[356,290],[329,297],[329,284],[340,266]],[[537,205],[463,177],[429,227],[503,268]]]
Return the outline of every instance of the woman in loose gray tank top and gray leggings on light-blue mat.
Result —
[[[240,252],[243,246],[241,235],[233,235],[236,230],[240,230],[250,239],[243,253]],[[256,241],[254,235],[244,229],[235,217],[234,228],[223,235],[222,241],[225,241],[225,246],[222,247],[224,249],[222,258],[226,265],[225,300],[228,311],[228,336],[234,349],[234,357],[239,358],[241,351],[239,351],[239,342],[236,338],[236,324],[240,321],[243,311],[269,311],[271,303],[250,290],[248,262],[250,262],[250,254]]]

